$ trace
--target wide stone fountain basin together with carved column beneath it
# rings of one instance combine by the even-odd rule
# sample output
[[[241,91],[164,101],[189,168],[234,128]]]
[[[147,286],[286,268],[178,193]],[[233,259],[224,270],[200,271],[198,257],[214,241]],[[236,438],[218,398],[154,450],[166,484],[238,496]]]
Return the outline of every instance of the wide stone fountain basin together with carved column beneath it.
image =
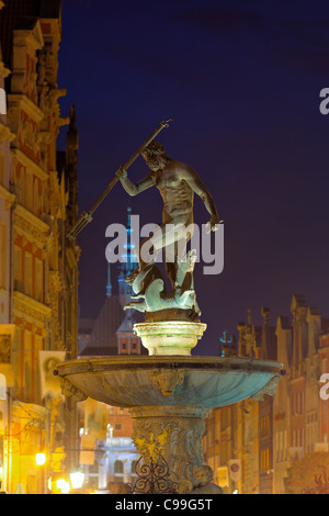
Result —
[[[194,493],[196,472],[204,465],[204,418],[211,408],[273,394],[282,363],[238,357],[117,356],[63,362],[56,373],[67,396],[127,407],[141,455],[144,450],[145,457],[163,457],[170,480]],[[214,489],[209,482],[202,493],[213,494]]]

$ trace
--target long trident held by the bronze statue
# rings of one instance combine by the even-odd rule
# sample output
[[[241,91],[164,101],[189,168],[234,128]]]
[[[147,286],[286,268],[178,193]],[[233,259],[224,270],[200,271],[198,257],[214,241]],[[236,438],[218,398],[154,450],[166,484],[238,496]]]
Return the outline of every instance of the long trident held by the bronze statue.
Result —
[[[171,122],[172,119],[168,119],[162,121],[158,127],[152,132],[152,134],[144,142],[144,144],[136,150],[136,153],[128,159],[122,167],[118,168],[118,170],[115,173],[115,177],[112,179],[110,184],[105,188],[103,193],[99,197],[99,199],[93,203],[91,209],[88,212],[82,212],[79,221],[77,224],[72,227],[72,229],[67,234],[67,237],[69,239],[77,238],[78,234],[87,226],[92,221],[92,214],[93,212],[99,207],[99,205],[103,202],[107,193],[112,190],[114,184],[118,181],[120,176],[122,175],[123,170],[127,170],[129,166],[135,161],[135,159],[138,158],[139,154],[143,153],[143,150],[151,143],[152,139],[162,131],[164,127],[169,127],[169,122]]]

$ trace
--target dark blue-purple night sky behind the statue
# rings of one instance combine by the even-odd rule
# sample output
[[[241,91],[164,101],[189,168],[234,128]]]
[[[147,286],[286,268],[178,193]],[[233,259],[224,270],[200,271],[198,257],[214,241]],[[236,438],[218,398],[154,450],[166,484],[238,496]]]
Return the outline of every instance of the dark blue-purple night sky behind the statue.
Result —
[[[207,332],[195,349],[217,355],[252,309],[288,315],[294,292],[329,316],[329,2],[322,0],[63,0],[63,115],[76,104],[79,212],[88,211],[163,119],[159,139],[191,165],[225,220],[225,267],[195,271]],[[65,134],[64,130],[64,134]],[[63,145],[64,134],[59,143]],[[141,158],[132,180],[147,173]],[[116,184],[79,236],[81,316],[105,296],[106,226],[160,223],[156,189],[129,198]],[[208,214],[195,199],[195,222]],[[113,276],[116,266],[112,266]]]

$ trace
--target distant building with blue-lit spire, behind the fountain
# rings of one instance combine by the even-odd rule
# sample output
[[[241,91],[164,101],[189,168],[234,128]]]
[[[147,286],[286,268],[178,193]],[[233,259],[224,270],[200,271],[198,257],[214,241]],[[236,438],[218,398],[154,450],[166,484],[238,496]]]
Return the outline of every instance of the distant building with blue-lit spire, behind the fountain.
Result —
[[[131,207],[127,207],[127,244],[118,266],[117,281],[112,279],[107,262],[105,300],[95,319],[79,318],[79,357],[111,357],[147,354],[134,325],[144,321],[144,314],[124,310],[131,301],[132,287],[125,278],[136,267],[131,239]],[[111,482],[134,484],[135,464],[139,453],[133,442],[133,418],[126,408],[107,406],[87,399],[79,403],[81,429],[80,448],[84,442],[94,453],[80,453],[80,467],[86,472],[84,491],[106,491]]]

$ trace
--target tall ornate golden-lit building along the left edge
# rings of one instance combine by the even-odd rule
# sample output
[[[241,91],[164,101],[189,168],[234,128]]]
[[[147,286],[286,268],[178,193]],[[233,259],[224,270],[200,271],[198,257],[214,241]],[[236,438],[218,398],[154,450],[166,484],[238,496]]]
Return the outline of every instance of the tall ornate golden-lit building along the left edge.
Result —
[[[3,3],[1,69],[7,75],[5,123],[11,143],[2,188],[9,192],[11,245],[9,305],[7,319],[0,321],[2,327],[5,323],[12,328],[13,370],[7,392],[3,482],[11,493],[18,485],[26,493],[39,493],[45,479],[41,480],[35,464],[36,452],[47,455],[54,476],[76,465],[71,452],[78,437],[75,406],[64,402],[59,390],[45,391],[42,357],[77,357],[80,250],[66,233],[77,214],[78,133],[73,110],[63,119],[58,104],[66,94],[57,85],[60,0]],[[58,157],[57,136],[67,124],[66,156]],[[0,156],[1,150],[0,146]]]

